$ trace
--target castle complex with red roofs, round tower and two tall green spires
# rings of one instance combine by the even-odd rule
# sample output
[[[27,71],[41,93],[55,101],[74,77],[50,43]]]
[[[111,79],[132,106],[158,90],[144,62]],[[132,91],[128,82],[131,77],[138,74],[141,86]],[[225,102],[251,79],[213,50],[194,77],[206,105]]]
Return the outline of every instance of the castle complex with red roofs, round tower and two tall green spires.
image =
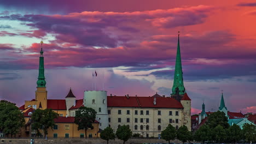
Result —
[[[95,129],[88,131],[88,136],[91,137],[99,136],[100,131],[106,127],[112,127],[116,131],[120,125],[124,124],[129,125],[133,134],[139,133],[143,137],[159,137],[168,124],[172,124],[176,129],[186,125],[191,130],[191,99],[183,85],[179,37],[171,97],[157,93],[151,97],[137,97],[137,95],[130,97],[129,94],[107,96],[107,91],[84,91],[84,98],[77,100],[70,89],[65,99],[47,99],[45,85],[44,57],[41,47],[36,99],[25,101],[25,105],[19,108],[26,116],[27,128],[24,134],[26,136],[35,134],[30,125],[33,111],[53,109],[60,116],[55,119],[56,124],[60,125],[56,127],[63,129],[65,125],[73,125],[74,128],[72,131],[65,129],[64,132],[53,129],[48,137],[70,137],[71,135],[83,137],[84,133],[76,129],[77,126],[73,121],[75,111],[81,106],[92,107],[97,112]]]

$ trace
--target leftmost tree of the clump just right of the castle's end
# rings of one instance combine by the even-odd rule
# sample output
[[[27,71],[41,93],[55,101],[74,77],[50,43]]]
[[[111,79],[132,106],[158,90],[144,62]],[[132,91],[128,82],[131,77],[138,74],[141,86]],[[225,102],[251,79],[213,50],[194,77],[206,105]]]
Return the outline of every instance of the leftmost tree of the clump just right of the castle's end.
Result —
[[[209,140],[210,133],[210,127],[206,124],[203,124],[198,130],[195,131],[194,139],[196,141],[201,141],[202,143],[205,143],[205,141]]]

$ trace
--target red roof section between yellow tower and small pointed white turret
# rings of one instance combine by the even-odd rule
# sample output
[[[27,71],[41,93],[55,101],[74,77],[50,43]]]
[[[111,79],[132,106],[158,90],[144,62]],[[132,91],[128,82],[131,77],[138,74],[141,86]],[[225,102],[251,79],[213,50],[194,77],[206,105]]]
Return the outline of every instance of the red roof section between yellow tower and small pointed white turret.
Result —
[[[66,109],[66,100],[65,99],[48,99],[47,100],[47,109],[67,110]]]

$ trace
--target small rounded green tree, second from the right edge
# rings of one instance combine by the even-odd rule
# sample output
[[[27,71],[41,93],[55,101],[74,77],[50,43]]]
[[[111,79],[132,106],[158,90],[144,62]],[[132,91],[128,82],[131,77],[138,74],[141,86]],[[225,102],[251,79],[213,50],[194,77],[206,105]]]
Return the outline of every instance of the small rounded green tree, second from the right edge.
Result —
[[[226,131],[226,135],[227,135],[228,141],[230,141],[232,143],[236,143],[237,141],[242,139],[242,130],[238,125],[233,124]]]

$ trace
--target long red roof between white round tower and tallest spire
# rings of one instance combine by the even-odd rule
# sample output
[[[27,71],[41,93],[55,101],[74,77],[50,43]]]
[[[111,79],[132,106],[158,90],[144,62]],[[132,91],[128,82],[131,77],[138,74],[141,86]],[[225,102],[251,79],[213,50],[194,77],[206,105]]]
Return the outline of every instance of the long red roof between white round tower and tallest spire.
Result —
[[[183,109],[182,104],[173,99],[159,97],[156,99],[156,105],[154,105],[153,97],[127,97],[124,96],[108,96],[107,105],[109,107],[159,107],[159,108],[177,108]]]

